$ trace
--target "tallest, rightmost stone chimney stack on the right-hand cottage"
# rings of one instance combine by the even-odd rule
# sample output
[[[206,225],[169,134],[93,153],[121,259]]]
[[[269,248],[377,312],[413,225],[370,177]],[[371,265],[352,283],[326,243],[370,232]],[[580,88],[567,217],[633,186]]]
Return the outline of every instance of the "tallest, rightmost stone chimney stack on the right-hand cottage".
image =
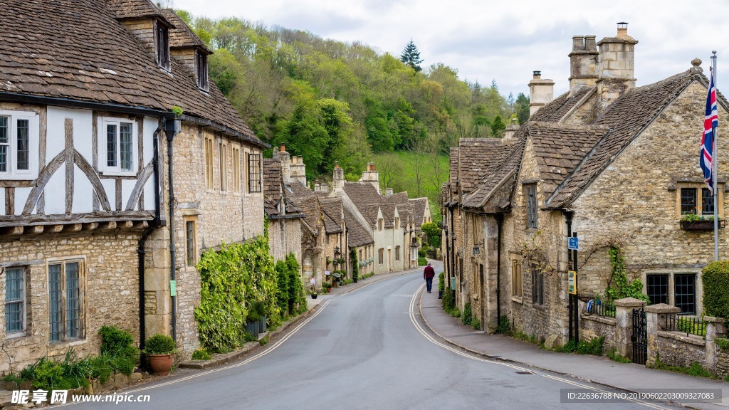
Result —
[[[605,37],[597,45],[600,47],[597,90],[599,110],[604,111],[626,90],[634,88],[635,45],[638,41],[628,36],[628,23],[617,23],[617,36]]]

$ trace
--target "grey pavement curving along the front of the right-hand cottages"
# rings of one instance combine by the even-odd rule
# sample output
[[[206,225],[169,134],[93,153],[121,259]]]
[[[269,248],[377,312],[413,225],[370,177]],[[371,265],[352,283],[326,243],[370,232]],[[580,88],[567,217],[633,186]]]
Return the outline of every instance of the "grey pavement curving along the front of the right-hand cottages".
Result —
[[[433,263],[437,272],[442,263]],[[694,409],[729,408],[729,384],[720,380],[687,376],[635,363],[617,363],[605,356],[566,354],[539,349],[535,344],[510,336],[488,334],[462,325],[459,318],[443,311],[438,299],[437,277],[432,293],[421,293],[419,310],[426,325],[449,344],[476,355],[521,363],[533,368],[572,376],[628,392],[657,389],[722,389],[721,403],[683,403]],[[594,406],[594,405],[593,405]]]

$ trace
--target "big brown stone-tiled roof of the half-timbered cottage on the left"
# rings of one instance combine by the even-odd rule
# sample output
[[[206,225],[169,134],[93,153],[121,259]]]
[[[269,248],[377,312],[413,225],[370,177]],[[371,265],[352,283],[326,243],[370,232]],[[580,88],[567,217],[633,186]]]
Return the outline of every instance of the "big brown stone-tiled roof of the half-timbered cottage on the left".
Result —
[[[155,17],[148,16],[149,1],[111,1],[114,9],[95,0],[3,0],[2,4],[0,93],[160,112],[177,105],[190,120],[210,121],[247,142],[268,146],[212,82],[209,92],[201,91],[192,73],[174,58],[171,73],[163,71],[152,50],[117,20]],[[141,7],[137,14],[130,11],[134,7]]]

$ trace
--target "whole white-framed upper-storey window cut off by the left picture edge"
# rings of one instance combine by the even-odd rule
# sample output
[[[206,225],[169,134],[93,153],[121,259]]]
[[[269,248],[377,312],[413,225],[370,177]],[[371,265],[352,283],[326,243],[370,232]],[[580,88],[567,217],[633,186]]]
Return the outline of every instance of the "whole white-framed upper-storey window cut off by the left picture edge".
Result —
[[[38,124],[34,112],[0,111],[0,179],[36,177]]]

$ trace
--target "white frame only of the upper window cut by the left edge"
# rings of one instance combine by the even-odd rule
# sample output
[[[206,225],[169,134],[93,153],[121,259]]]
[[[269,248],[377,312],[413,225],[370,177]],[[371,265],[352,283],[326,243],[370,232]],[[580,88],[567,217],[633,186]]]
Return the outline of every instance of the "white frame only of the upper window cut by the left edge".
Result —
[[[0,171],[0,179],[32,180],[38,177],[39,117],[32,111],[0,110],[0,117],[8,117],[9,160],[7,171]],[[17,169],[17,120],[28,120],[28,169]]]

